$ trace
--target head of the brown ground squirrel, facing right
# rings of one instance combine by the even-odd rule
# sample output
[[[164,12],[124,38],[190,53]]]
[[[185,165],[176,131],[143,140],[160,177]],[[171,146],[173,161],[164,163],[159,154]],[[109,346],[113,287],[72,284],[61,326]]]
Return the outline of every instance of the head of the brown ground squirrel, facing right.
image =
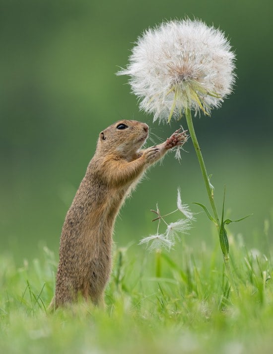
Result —
[[[148,137],[147,124],[136,120],[119,120],[100,132],[97,151],[130,158]]]

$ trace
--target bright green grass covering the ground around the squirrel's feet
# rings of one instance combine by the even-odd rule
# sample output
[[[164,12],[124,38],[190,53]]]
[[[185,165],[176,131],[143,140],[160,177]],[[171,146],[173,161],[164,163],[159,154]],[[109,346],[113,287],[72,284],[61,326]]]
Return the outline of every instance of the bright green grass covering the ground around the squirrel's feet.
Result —
[[[272,256],[230,240],[239,297],[218,246],[185,241],[160,259],[140,246],[117,249],[107,309],[84,302],[48,313],[56,259],[16,268],[0,258],[0,353],[272,353]],[[160,266],[160,268],[158,268]],[[160,273],[160,277],[155,274]]]

